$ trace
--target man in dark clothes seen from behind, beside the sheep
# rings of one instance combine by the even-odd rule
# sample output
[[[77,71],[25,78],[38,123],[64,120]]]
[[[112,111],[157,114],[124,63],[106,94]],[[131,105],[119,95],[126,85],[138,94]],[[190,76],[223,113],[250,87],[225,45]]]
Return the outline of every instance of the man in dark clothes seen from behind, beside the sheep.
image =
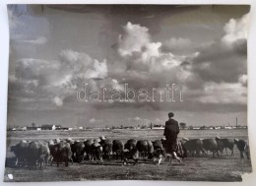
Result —
[[[172,112],[168,113],[168,120],[165,122],[163,136],[166,138],[166,153],[170,154],[173,159],[177,159],[181,163],[181,159],[177,156],[177,136],[179,134],[178,122],[172,117],[174,114]]]

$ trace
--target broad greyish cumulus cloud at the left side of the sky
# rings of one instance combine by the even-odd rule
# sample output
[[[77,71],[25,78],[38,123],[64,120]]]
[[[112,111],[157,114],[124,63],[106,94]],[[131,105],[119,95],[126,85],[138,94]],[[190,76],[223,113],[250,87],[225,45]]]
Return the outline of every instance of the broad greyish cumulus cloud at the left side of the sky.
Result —
[[[63,50],[59,60],[55,61],[33,58],[17,61],[15,76],[9,81],[16,87],[20,85],[16,89],[24,88],[34,96],[46,96],[57,106],[62,106],[65,97],[74,95],[85,82],[106,76],[106,60],[99,62],[86,53]]]

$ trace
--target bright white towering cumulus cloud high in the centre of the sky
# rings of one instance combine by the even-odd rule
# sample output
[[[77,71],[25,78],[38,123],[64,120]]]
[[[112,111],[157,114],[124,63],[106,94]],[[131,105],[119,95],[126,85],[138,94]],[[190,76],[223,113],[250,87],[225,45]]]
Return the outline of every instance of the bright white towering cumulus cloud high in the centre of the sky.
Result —
[[[152,76],[147,78],[159,82],[187,78],[188,72],[180,66],[186,56],[162,52],[160,50],[162,43],[153,42],[146,27],[128,22],[123,30],[119,35],[117,51],[126,64],[128,73],[132,76],[136,75],[137,79],[140,79],[139,76],[143,78],[144,73],[150,73]]]

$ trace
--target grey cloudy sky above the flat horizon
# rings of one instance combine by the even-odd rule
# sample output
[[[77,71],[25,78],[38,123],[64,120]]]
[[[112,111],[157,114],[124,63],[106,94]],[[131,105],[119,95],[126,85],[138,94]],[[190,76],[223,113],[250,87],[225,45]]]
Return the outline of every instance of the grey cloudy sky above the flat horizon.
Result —
[[[249,6],[10,5],[8,125],[247,124]],[[183,101],[79,101],[175,84]],[[175,95],[177,96],[177,94]],[[149,96],[151,98],[151,96]],[[159,97],[157,97],[158,99]],[[177,97],[176,97],[177,98]]]

